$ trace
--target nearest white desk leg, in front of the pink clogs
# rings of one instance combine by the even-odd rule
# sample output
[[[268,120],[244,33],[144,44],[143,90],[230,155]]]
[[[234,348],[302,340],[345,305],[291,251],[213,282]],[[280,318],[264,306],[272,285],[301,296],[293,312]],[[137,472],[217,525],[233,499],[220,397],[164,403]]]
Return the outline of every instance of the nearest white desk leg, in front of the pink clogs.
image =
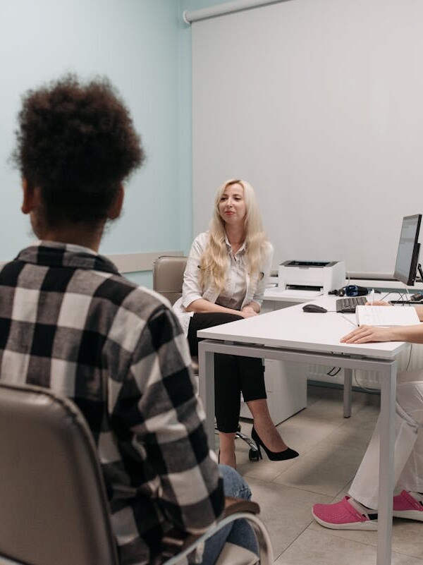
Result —
[[[379,509],[377,565],[391,565],[393,450],[395,438],[395,400],[397,363],[394,361],[381,375],[381,444],[379,454]]]

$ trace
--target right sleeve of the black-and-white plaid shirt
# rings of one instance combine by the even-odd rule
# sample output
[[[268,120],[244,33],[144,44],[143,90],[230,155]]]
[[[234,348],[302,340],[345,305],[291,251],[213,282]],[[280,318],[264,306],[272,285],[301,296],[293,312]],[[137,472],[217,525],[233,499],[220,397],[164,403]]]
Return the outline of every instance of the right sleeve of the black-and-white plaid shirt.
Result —
[[[223,511],[223,482],[207,444],[190,365],[178,320],[160,305],[142,329],[113,418],[130,430],[132,446],[158,478],[152,489],[168,520],[201,533]]]

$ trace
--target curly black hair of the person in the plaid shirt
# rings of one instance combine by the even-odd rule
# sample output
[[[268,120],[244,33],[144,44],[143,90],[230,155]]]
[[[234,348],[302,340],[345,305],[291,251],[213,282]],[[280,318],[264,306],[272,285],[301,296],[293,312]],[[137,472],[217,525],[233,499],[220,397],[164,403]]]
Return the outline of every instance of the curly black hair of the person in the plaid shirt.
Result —
[[[13,162],[41,190],[44,221],[97,224],[145,158],[128,109],[107,78],[69,74],[23,95]]]

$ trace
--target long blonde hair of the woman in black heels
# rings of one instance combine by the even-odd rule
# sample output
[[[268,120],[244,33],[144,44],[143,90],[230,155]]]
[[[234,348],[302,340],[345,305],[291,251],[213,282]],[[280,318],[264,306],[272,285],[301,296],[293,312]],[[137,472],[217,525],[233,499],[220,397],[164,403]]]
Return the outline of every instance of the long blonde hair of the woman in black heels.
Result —
[[[226,270],[228,269],[228,252],[225,242],[225,222],[219,214],[219,202],[228,186],[239,184],[244,190],[245,207],[245,257],[247,268],[252,279],[259,278],[261,259],[266,253],[269,241],[262,227],[262,218],[255,191],[246,181],[238,178],[223,183],[217,190],[214,199],[212,221],[209,227],[209,241],[200,261],[200,285],[204,288],[211,284],[217,291],[222,292],[226,286]]]

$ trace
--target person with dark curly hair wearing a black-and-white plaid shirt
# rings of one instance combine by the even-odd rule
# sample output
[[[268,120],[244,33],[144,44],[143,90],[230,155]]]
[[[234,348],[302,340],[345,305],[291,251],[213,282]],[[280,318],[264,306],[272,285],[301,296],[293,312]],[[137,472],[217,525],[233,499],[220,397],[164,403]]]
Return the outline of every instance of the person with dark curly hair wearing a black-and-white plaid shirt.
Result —
[[[168,303],[98,253],[123,182],[143,162],[140,137],[108,80],[67,75],[23,97],[13,158],[40,241],[0,270],[0,378],[76,403],[102,463],[121,564],[157,563],[166,531],[205,531],[224,494],[250,490],[221,467],[223,485]],[[254,553],[245,526],[209,540],[203,563],[227,540]]]

